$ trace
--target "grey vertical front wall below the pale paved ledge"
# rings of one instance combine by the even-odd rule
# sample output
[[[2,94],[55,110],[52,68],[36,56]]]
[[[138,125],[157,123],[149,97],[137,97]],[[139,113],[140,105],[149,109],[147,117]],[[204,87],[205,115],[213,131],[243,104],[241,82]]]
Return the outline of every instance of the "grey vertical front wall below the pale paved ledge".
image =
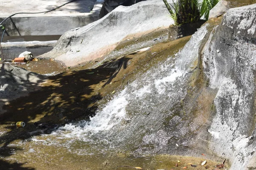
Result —
[[[3,20],[4,18],[0,18]],[[12,17],[3,23],[10,36],[61,35],[73,28],[86,26],[99,19],[98,15]],[[12,22],[13,21],[13,22]],[[0,31],[0,35],[2,31]]]

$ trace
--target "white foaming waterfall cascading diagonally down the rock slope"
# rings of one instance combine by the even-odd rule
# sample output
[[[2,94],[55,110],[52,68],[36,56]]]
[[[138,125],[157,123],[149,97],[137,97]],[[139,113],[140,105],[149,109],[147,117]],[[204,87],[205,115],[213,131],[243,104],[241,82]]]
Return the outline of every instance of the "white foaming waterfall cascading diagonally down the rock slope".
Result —
[[[169,56],[166,61],[140,75],[96,111],[90,121],[69,123],[52,135],[67,138],[70,143],[73,140],[105,141],[113,145],[130,140],[135,144],[139,142],[135,136],[140,136],[144,143],[154,143],[152,135],[163,127],[166,117],[174,115],[172,108],[186,96],[185,82],[198,59],[198,48],[207,32],[207,25],[200,28],[174,57]],[[163,141],[156,145],[164,144],[169,135],[158,136]]]

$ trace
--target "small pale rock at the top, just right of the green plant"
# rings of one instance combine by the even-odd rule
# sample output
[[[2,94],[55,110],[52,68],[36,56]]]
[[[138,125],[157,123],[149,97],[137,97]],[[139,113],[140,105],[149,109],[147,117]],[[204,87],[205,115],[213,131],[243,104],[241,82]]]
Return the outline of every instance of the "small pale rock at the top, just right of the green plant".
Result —
[[[227,12],[230,8],[230,2],[225,0],[220,0],[211,10],[209,13],[209,19],[218,17],[221,14]]]

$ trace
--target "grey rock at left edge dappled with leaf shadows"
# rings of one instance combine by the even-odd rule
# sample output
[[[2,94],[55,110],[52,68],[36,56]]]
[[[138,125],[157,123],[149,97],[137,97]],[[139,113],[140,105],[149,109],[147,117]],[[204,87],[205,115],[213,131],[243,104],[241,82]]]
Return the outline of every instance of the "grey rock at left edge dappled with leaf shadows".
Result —
[[[9,64],[0,64],[0,114],[5,111],[2,106],[29,92],[39,90],[46,76],[27,71]]]

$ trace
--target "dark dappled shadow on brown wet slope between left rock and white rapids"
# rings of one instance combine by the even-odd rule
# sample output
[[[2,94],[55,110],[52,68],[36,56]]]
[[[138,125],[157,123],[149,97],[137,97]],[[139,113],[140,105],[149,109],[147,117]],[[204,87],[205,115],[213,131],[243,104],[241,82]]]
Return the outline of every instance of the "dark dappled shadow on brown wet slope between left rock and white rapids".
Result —
[[[24,87],[35,86],[33,88],[40,88],[40,90],[3,105],[6,113],[0,115],[0,130],[6,132],[0,136],[0,146],[6,147],[16,139],[24,140],[41,133],[51,133],[56,127],[81,116],[89,120],[97,109],[93,104],[102,99],[99,89],[115,70],[115,68],[99,68],[68,71],[49,77],[43,86],[37,82],[26,85],[26,81],[23,81],[23,86],[18,87],[21,89],[16,90],[16,86],[15,88],[13,86],[20,85],[20,82],[15,75],[8,72],[9,81],[5,84],[6,90],[17,91],[18,94],[24,90]],[[2,80],[3,77],[0,77],[0,82],[3,82]],[[3,101],[2,96],[0,101]],[[18,121],[25,122],[25,127],[17,128],[15,123]]]

